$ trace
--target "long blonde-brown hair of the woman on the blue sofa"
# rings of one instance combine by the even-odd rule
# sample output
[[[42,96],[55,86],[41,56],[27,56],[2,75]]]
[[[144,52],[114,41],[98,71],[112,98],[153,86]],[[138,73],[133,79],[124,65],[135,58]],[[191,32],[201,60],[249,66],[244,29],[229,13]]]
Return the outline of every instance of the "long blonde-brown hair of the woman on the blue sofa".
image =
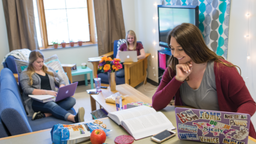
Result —
[[[35,73],[35,69],[33,67],[33,63],[38,58],[41,58],[41,59],[44,60],[43,54],[39,50],[31,51],[31,53],[29,54],[29,64],[28,64],[27,71],[26,71],[27,75],[29,76],[29,82],[28,82],[29,85],[33,85],[32,75]],[[52,77],[54,77],[53,72],[50,71],[45,64],[43,64],[43,66],[42,66],[42,71],[45,72],[46,74],[51,75]]]

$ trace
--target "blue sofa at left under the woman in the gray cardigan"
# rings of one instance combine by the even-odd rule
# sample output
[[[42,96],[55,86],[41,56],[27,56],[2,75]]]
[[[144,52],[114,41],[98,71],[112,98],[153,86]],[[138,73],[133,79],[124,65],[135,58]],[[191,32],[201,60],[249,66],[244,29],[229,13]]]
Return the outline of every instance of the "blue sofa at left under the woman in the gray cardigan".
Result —
[[[73,122],[60,120],[53,116],[31,120],[31,117],[26,115],[20,89],[13,72],[4,68],[0,75],[0,136],[19,135],[49,129],[59,123],[73,124]],[[73,115],[76,114],[74,108],[68,112]]]

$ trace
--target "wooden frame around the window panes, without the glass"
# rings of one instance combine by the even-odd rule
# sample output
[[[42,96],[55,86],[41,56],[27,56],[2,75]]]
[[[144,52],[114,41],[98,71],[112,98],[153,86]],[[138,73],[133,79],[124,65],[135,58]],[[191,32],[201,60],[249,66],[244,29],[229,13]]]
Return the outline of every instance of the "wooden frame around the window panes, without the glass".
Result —
[[[40,49],[54,48],[53,45],[48,45],[48,36],[47,36],[47,27],[46,27],[46,19],[45,19],[45,13],[44,13],[43,0],[37,0],[37,7],[38,7],[38,19],[39,19],[41,40],[42,40],[42,47],[39,47],[39,48]],[[87,10],[88,10],[90,41],[83,42],[82,46],[97,44],[96,33],[95,33],[95,28],[94,28],[95,24],[94,24],[94,13],[93,13],[92,0],[87,0]],[[73,47],[77,47],[77,46],[79,46],[79,45],[77,42],[75,42]],[[66,47],[71,47],[69,42],[66,43]],[[58,47],[58,48],[61,48],[61,47]]]

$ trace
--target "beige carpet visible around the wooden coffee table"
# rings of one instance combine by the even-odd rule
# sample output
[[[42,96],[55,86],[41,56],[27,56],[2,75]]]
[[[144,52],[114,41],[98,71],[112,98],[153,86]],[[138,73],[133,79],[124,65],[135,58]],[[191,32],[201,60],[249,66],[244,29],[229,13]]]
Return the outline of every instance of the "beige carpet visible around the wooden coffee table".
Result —
[[[145,84],[145,88],[149,87],[149,86],[153,86],[150,83]],[[74,106],[74,109],[76,110],[76,112],[78,112],[79,107],[84,107],[85,108],[85,121],[88,120],[92,120],[91,117],[91,105],[90,105],[90,95],[87,94],[86,90],[90,89],[90,84],[88,84],[88,86],[85,85],[81,85],[78,86],[74,95],[74,98],[76,99],[76,104]],[[95,85],[94,85],[95,87]],[[148,96],[149,98],[152,98],[153,95],[156,92],[156,89],[154,90],[154,88],[146,88],[146,91],[152,91],[152,92],[146,92],[144,91],[143,88],[143,83],[139,84],[138,86],[135,87],[135,89],[137,89],[138,91],[140,91],[141,93],[143,93],[144,95]],[[99,104],[97,104],[97,109],[100,108]]]

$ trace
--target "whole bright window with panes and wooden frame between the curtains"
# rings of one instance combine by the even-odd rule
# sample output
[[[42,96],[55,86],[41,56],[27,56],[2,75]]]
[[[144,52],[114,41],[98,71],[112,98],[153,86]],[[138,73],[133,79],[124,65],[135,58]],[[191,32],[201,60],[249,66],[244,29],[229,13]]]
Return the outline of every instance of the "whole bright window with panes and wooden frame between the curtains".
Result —
[[[52,42],[83,41],[95,44],[95,20],[92,0],[33,0],[38,44],[52,48]],[[60,46],[59,46],[60,47]]]

